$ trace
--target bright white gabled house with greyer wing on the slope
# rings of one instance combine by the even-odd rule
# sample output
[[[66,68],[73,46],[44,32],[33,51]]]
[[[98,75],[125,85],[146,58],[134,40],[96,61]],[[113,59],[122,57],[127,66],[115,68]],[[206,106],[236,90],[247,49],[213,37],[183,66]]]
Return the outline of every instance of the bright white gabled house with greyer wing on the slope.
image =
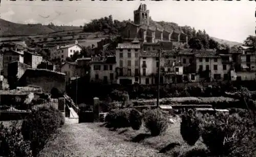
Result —
[[[56,50],[56,53],[53,52],[51,56],[53,59],[59,59],[61,62],[64,62],[67,57],[72,57],[74,53],[80,53],[81,50],[82,47],[78,44],[77,41],[75,41],[75,44],[68,44],[67,46],[60,47]]]

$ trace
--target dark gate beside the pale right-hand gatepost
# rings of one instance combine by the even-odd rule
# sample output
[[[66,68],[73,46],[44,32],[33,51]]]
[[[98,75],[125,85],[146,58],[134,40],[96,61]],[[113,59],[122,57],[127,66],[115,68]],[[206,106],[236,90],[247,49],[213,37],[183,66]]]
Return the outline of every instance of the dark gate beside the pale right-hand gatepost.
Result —
[[[94,122],[94,112],[90,108],[90,105],[80,104],[78,113],[78,123],[93,123]]]

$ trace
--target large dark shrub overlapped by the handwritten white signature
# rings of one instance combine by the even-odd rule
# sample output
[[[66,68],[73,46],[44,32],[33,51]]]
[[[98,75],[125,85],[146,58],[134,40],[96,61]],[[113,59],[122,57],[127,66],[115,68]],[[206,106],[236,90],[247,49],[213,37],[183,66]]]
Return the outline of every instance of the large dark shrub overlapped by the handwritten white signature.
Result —
[[[238,123],[241,118],[238,114],[217,113],[216,115],[205,114],[201,124],[203,142],[213,155],[228,155],[237,145],[237,141],[224,142],[224,138],[239,136]]]

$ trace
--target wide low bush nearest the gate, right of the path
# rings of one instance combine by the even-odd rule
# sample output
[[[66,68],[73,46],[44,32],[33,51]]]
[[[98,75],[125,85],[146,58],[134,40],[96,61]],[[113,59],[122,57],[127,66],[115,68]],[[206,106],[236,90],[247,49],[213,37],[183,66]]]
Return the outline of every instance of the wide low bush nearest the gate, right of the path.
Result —
[[[105,120],[108,126],[114,128],[130,127],[130,113],[131,109],[112,109]]]

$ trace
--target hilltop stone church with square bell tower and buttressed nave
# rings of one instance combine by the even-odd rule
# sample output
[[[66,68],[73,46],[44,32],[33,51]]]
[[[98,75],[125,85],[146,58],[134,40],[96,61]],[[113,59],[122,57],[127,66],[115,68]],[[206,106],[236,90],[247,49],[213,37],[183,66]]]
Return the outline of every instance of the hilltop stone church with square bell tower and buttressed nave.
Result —
[[[150,17],[150,10],[147,10],[145,4],[140,4],[139,8],[134,11],[134,23],[129,20],[120,35],[126,41],[138,38],[142,43],[171,42],[173,48],[182,47],[189,39],[189,36],[179,26],[173,25],[172,28],[164,29],[153,21]]]

